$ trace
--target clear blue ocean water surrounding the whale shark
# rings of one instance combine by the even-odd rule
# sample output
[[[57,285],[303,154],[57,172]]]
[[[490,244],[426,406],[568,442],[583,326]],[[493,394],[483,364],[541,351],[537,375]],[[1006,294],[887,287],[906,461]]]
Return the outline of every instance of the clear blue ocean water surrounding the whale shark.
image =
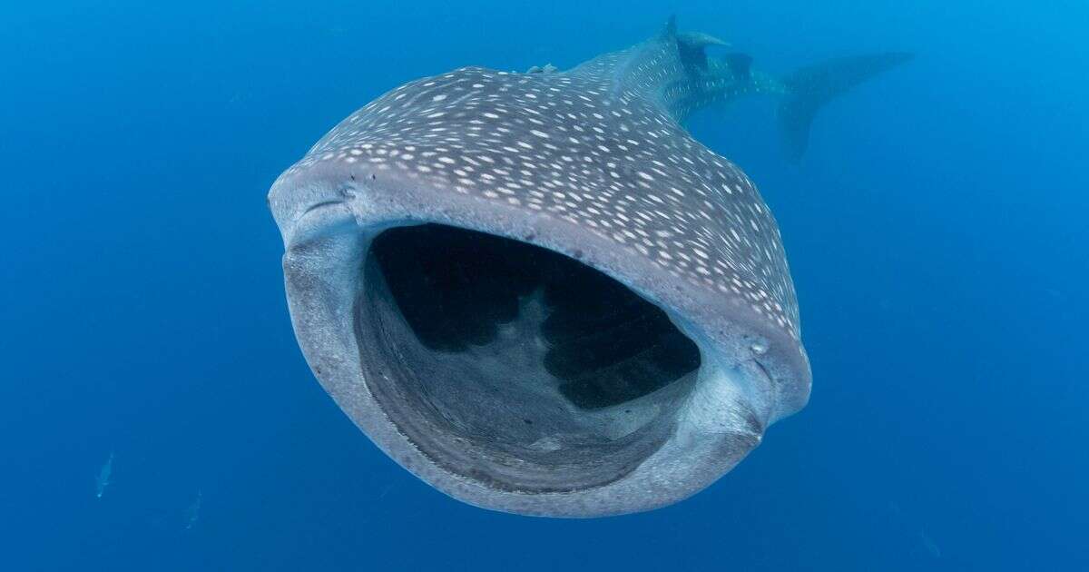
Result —
[[[314,380],[268,186],[408,80],[567,68],[671,13],[781,73],[917,53],[823,110],[798,165],[770,100],[690,123],[782,227],[812,399],[658,511],[543,520],[449,499]],[[0,568],[1089,569],[1084,2],[61,1],[0,16]]]

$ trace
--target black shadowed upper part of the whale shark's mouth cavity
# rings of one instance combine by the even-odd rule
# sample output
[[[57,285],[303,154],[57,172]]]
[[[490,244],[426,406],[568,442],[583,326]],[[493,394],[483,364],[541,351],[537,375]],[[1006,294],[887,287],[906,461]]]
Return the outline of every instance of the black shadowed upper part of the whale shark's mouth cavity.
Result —
[[[467,352],[494,342],[526,300],[539,296],[544,369],[577,407],[635,400],[699,367],[698,348],[664,312],[552,251],[421,224],[387,230],[371,252],[412,331],[437,352]]]

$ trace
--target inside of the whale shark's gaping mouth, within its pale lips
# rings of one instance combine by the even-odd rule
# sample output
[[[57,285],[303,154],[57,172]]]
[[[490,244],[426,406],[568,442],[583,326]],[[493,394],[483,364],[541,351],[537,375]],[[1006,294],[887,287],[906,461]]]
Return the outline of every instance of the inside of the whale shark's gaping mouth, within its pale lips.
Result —
[[[363,378],[443,470],[521,492],[603,486],[671,436],[700,350],[604,273],[441,224],[384,230],[354,319]]]

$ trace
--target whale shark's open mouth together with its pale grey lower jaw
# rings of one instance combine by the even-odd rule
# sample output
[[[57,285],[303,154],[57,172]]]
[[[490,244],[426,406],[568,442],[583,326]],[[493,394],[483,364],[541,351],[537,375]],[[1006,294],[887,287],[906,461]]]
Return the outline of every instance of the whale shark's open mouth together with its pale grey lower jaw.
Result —
[[[284,270],[311,368],[383,451],[457,499],[550,516],[649,510],[727,472],[769,422],[755,362],[589,253],[360,223],[340,203],[302,218]]]

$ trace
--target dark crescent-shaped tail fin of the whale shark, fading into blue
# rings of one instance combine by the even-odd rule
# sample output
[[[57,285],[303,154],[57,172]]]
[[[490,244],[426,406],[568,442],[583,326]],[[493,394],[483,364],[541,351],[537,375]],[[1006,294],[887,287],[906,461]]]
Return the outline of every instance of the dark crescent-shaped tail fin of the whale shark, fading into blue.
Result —
[[[779,126],[787,158],[797,161],[809,143],[809,126],[820,108],[852,87],[914,58],[910,53],[840,58],[803,68],[783,80],[786,96],[779,104]]]

